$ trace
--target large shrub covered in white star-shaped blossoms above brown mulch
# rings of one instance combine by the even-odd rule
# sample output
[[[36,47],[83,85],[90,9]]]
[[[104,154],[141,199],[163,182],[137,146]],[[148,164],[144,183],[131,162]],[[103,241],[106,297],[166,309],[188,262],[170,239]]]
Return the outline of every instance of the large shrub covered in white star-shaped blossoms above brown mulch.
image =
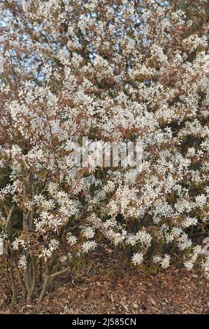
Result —
[[[170,2],[1,1],[0,225],[14,303],[18,284],[31,302],[39,281],[43,300],[101,239],[131,248],[136,266],[178,260],[209,276],[206,1],[202,24],[189,1]],[[93,151],[76,166],[83,137]],[[140,170],[96,164],[104,143],[139,140]]]

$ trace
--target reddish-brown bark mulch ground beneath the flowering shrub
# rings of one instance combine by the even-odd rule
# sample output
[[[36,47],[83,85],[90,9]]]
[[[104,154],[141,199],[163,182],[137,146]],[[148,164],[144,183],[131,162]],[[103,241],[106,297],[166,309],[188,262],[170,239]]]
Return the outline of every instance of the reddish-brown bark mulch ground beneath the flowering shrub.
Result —
[[[94,260],[96,260],[94,262]],[[208,314],[209,282],[201,273],[171,267],[147,275],[133,267],[118,268],[108,255],[94,267],[87,266],[76,275],[66,274],[50,288],[42,303],[7,305],[10,291],[6,276],[1,274],[1,314]],[[73,279],[72,279],[73,277]]]

